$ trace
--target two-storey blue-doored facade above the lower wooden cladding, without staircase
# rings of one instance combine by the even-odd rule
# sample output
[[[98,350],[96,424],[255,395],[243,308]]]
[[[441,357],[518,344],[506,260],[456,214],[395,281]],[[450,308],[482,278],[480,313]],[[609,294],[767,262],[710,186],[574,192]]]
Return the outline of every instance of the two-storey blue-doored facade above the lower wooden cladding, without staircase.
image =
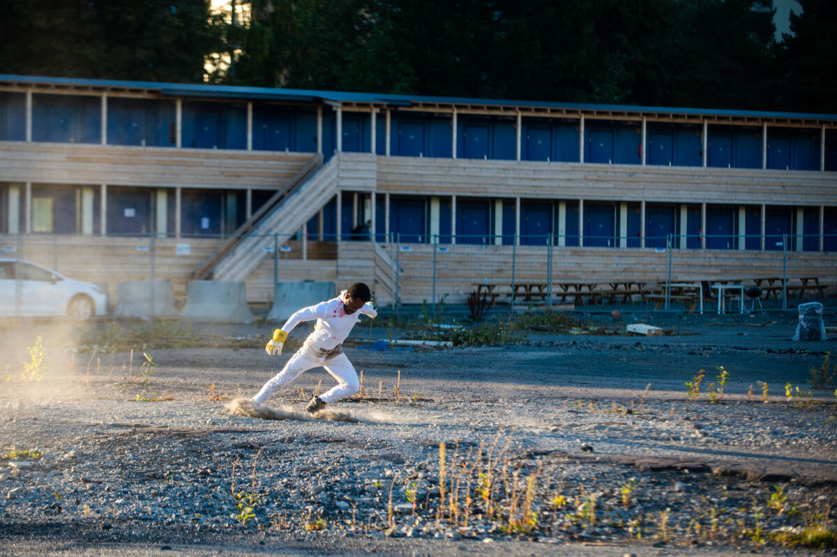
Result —
[[[0,75],[0,234],[220,242],[332,158],[315,241],[837,247],[837,115]]]

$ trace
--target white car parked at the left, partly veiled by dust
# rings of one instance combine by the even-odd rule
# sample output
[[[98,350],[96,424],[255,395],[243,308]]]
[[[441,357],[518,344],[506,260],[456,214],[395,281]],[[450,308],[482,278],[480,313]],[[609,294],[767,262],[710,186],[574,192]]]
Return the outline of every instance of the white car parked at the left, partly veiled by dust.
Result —
[[[107,294],[32,261],[0,258],[0,317],[67,316],[83,321],[107,313]]]

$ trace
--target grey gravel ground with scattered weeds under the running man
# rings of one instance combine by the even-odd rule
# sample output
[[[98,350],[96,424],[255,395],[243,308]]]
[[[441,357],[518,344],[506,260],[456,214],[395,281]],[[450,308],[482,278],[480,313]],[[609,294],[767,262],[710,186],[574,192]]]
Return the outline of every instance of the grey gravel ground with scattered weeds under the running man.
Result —
[[[379,352],[358,327],[362,395],[311,419],[333,381],[312,370],[269,401],[281,420],[235,399],[290,350],[151,349],[151,375],[9,325],[0,554],[807,554],[775,538],[834,530],[837,399],[808,384],[834,343],[793,343],[789,315],[653,319],[675,334]],[[24,382],[37,335],[49,363]]]

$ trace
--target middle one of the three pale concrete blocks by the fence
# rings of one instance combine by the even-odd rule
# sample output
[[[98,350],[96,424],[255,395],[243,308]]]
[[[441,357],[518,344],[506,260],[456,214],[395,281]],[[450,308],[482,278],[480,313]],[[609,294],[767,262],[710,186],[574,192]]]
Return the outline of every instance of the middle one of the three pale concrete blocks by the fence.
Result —
[[[244,281],[189,281],[180,317],[201,323],[252,323]]]

